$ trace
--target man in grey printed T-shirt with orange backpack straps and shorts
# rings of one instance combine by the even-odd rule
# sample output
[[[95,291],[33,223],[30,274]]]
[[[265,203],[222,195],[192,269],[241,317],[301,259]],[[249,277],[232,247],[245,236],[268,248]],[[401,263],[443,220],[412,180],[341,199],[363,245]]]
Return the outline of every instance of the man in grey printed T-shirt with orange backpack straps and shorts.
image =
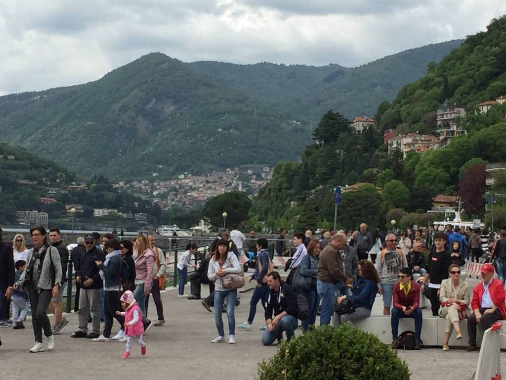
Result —
[[[397,236],[388,234],[385,243],[387,247],[376,257],[374,266],[379,275],[378,291],[383,295],[383,315],[390,315],[397,275],[402,268],[408,266],[408,263],[402,250],[397,248]]]

